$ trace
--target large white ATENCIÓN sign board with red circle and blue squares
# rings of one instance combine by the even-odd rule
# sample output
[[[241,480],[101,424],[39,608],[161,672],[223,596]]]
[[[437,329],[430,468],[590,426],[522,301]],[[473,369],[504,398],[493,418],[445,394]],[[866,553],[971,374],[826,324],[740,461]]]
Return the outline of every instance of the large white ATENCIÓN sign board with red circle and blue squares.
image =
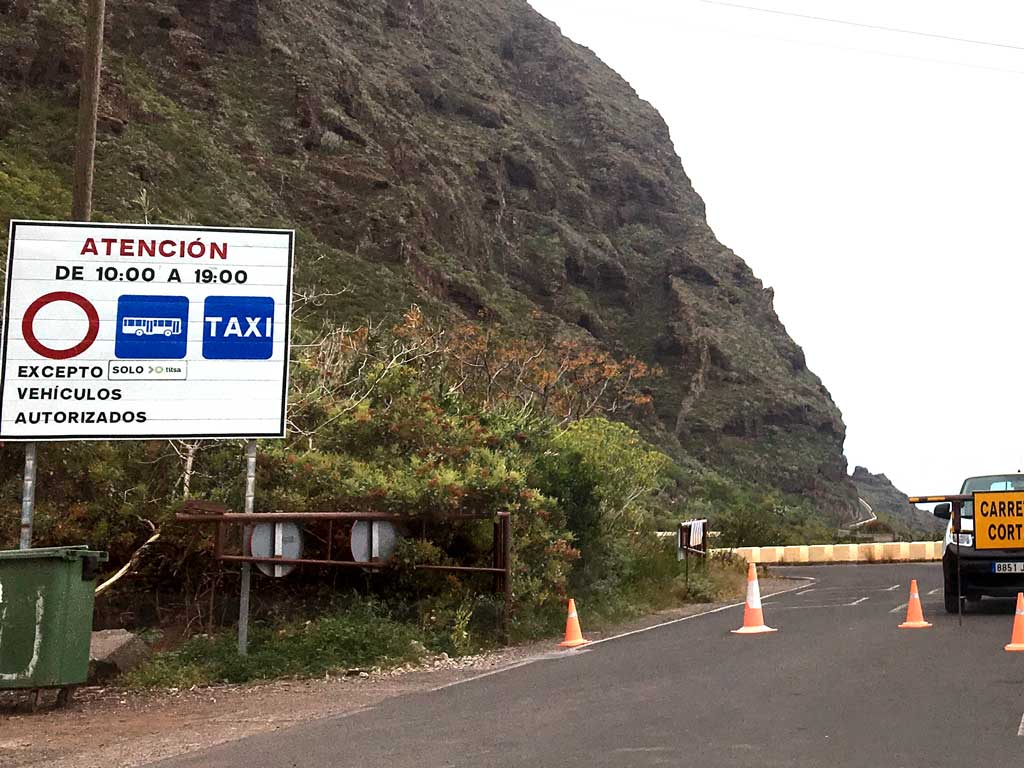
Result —
[[[283,437],[294,242],[12,221],[0,439]]]

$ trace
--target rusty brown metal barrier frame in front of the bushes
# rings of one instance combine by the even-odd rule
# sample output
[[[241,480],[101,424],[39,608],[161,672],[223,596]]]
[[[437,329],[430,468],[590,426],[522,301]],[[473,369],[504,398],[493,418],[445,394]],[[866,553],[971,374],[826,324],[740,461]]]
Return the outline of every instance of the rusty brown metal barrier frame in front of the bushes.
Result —
[[[497,516],[494,523],[494,545],[492,551],[492,566],[480,565],[413,565],[416,570],[447,571],[456,573],[492,573],[495,577],[495,592],[504,596],[504,609],[502,612],[502,628],[508,637],[512,615],[512,516],[509,512],[498,512],[497,515],[470,514],[470,515],[445,515],[434,518],[437,521],[471,521],[486,520]],[[175,515],[175,519],[180,522],[212,524],[214,530],[214,557],[221,562],[238,562],[243,567],[248,567],[252,563],[269,563],[274,565],[317,565],[327,567],[348,567],[383,570],[393,568],[390,562],[369,560],[359,562],[355,560],[342,560],[332,557],[334,551],[334,526],[339,522],[355,522],[357,520],[390,520],[393,522],[403,522],[406,524],[421,523],[421,529],[426,532],[428,520],[426,518],[409,517],[408,515],[397,515],[387,512],[228,512],[225,507],[211,502],[189,501],[186,502],[181,511]],[[245,553],[245,537],[240,538],[241,553],[232,554],[225,551],[225,541],[228,539],[228,528],[241,526],[246,530],[251,525],[267,522],[327,522],[327,555],[325,558],[286,558],[286,557],[253,557]],[[372,528],[371,528],[372,529]],[[372,547],[371,547],[372,550]]]

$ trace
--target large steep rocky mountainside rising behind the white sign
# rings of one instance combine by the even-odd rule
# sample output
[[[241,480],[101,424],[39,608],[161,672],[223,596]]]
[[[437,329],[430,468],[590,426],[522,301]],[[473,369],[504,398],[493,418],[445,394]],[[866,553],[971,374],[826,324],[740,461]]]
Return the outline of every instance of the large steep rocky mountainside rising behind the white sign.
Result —
[[[0,0],[3,218],[68,216],[83,38],[76,2]],[[329,323],[416,302],[637,355],[666,450],[856,515],[840,412],[665,121],[525,0],[108,0],[106,45],[97,218],[293,225]]]

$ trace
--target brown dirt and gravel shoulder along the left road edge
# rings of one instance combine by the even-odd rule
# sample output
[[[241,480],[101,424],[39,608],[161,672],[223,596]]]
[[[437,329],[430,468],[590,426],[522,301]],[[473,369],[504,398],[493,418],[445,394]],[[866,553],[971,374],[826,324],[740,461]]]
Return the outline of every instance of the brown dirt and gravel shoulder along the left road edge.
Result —
[[[764,579],[762,594],[795,586]],[[598,640],[728,603],[687,605],[608,629],[587,632]],[[586,629],[586,614],[584,613]],[[558,651],[556,640],[461,658],[432,657],[417,667],[364,672],[324,680],[285,680],[194,690],[127,691],[81,688],[71,707],[53,709],[45,694],[30,713],[27,695],[0,696],[0,765],[7,768],[134,768],[254,733],[310,720],[350,715],[407,693],[430,690]]]

